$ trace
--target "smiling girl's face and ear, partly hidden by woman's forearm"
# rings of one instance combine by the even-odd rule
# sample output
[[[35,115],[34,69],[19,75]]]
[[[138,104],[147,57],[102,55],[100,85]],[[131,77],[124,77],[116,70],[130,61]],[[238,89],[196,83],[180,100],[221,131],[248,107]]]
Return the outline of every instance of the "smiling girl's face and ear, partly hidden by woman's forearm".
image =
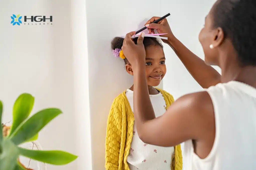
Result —
[[[149,86],[158,86],[166,73],[164,51],[160,46],[146,48],[146,78]],[[126,64],[126,71],[133,75],[132,66]]]

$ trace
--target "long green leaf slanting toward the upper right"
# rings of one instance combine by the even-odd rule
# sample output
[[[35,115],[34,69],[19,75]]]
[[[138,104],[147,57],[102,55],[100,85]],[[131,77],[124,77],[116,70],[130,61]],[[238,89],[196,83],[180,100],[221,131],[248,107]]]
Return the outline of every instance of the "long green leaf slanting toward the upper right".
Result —
[[[60,113],[62,113],[61,110],[56,108],[41,110],[31,116],[26,122],[20,124],[9,138],[15,145],[19,145],[38,134],[45,125]]]

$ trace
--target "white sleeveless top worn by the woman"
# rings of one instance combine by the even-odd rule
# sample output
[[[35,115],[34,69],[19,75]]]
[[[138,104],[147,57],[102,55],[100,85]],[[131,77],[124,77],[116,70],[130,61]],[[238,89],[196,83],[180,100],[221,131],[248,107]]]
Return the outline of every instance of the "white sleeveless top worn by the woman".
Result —
[[[184,143],[184,170],[256,169],[256,89],[231,81],[206,89],[215,113],[216,136],[210,154],[200,159],[192,141]]]

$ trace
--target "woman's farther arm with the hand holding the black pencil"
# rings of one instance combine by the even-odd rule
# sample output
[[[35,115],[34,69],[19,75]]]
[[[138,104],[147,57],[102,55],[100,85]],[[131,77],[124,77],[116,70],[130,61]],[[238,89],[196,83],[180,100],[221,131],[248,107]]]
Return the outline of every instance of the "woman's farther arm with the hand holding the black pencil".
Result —
[[[186,46],[184,46],[172,33],[168,21],[166,19],[158,23],[152,23],[159,17],[152,17],[146,24],[149,33],[152,29],[156,29],[160,33],[168,33],[166,36],[168,40],[163,40],[168,44],[179,57],[180,61],[184,64],[189,73],[194,77],[198,84],[203,88],[220,83],[220,74],[211,66],[205,64],[204,60],[192,53]],[[152,23],[152,24],[150,24]]]

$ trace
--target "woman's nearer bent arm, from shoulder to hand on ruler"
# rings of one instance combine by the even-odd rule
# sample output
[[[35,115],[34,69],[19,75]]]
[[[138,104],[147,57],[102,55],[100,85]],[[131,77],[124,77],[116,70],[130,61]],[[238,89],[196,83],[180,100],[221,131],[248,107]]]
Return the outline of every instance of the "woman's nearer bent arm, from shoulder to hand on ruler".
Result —
[[[214,108],[206,91],[179,98],[163,116],[155,117],[147,88],[146,55],[142,43],[144,34],[138,37],[136,45],[131,40],[134,34],[135,32],[126,34],[122,50],[133,66],[134,118],[142,141],[167,147],[178,145],[188,139],[194,139],[201,144],[214,141],[215,135],[211,133],[215,131]],[[208,151],[210,152],[205,150],[201,156],[204,157]]]

